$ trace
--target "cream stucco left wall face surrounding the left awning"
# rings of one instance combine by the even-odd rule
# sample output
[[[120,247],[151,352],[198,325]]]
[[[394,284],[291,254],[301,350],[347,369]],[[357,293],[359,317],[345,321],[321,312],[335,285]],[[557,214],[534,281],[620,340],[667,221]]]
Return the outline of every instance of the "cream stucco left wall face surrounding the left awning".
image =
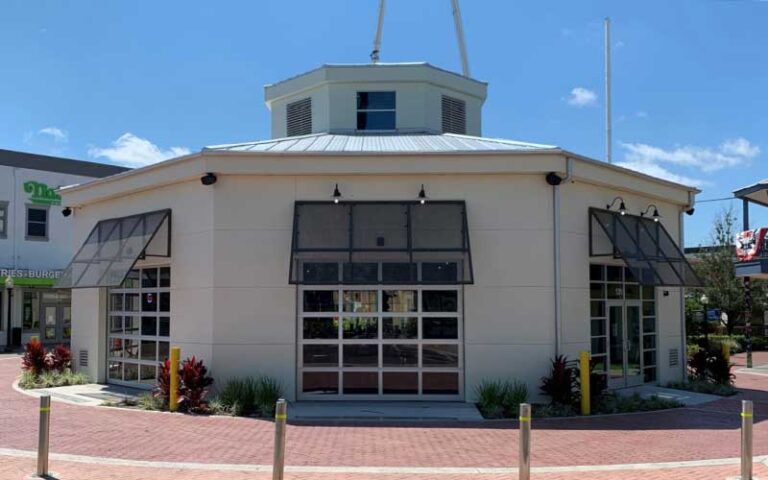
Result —
[[[145,191],[78,208],[72,251],[76,251],[99,220],[170,208],[173,211],[171,251],[171,335],[182,356],[204,358],[212,368],[213,233],[212,195],[199,180]],[[144,263],[167,263],[150,259]],[[88,349],[89,375],[105,380],[106,300],[98,289],[75,289],[72,296],[72,351]],[[94,313],[96,305],[98,313]],[[97,340],[94,340],[97,337]]]

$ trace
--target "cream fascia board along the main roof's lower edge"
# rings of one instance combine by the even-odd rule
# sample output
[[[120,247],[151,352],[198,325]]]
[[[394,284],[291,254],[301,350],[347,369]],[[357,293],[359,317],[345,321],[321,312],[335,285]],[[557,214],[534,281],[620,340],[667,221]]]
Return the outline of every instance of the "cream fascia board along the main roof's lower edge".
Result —
[[[473,158],[467,161],[467,157]],[[531,161],[531,157],[537,157]],[[689,192],[698,192],[666,180],[559,149],[545,151],[477,152],[227,152],[202,151],[60,190],[62,203],[77,207],[165,185],[186,182],[205,172],[219,175],[489,175],[544,174],[565,171],[566,158],[574,159],[574,179],[597,186],[687,204]],[[248,159],[248,161],[243,161]],[[361,163],[365,169],[361,170]],[[608,170],[609,175],[601,170]],[[682,194],[682,195],[681,195]]]

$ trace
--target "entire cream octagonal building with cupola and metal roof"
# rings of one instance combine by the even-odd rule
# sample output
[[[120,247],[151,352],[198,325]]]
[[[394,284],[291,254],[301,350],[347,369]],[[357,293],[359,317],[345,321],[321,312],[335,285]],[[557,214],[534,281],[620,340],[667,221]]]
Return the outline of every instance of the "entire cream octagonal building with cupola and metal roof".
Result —
[[[483,138],[486,88],[326,65],[266,87],[271,140],[64,189],[78,369],[149,386],[173,344],[290,399],[473,401],[591,350],[613,388],[681,380],[697,190]]]

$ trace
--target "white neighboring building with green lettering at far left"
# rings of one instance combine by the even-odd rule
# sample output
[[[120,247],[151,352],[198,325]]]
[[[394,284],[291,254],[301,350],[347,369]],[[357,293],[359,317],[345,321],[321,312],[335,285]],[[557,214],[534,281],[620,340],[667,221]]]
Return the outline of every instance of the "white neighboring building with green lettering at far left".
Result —
[[[69,341],[70,292],[53,286],[72,256],[72,218],[56,190],[125,170],[0,150],[0,346]]]

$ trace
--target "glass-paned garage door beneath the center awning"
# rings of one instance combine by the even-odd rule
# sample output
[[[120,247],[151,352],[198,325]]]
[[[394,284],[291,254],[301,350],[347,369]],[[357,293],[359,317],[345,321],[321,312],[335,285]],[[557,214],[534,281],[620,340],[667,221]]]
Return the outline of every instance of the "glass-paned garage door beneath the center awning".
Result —
[[[461,398],[459,288],[306,287],[298,307],[300,398]]]

